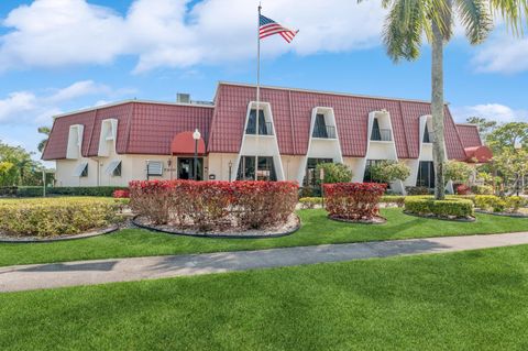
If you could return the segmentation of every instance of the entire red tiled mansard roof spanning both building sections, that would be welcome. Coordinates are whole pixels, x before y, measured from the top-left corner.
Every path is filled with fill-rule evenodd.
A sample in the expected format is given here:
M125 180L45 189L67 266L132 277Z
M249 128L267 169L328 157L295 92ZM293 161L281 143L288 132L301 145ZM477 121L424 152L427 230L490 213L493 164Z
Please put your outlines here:
M221 83L215 106L124 101L78 111L55 119L44 160L66 157L69 125L84 124L82 155L97 156L101 122L118 119L119 154L170 154L170 142L180 132L198 128L207 152L238 153L254 86ZM305 155L308 149L311 110L331 107L343 156L363 157L367 145L369 113L385 109L391 113L396 151L400 158L419 156L419 119L430 114L425 101L362 97L300 89L261 88L261 100L271 103L278 146L285 155ZM465 160L464 138L459 135L446 107L446 145L449 158ZM465 132L465 125L462 128ZM479 140L479 144L480 140ZM472 145L476 146L476 145Z

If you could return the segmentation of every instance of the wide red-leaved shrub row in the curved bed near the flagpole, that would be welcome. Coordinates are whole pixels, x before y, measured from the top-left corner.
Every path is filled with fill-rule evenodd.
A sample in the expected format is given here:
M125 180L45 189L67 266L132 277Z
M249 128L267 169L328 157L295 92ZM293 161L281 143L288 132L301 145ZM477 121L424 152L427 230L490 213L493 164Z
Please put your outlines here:
M210 231L283 223L297 205L294 182L131 182L132 209L155 224Z

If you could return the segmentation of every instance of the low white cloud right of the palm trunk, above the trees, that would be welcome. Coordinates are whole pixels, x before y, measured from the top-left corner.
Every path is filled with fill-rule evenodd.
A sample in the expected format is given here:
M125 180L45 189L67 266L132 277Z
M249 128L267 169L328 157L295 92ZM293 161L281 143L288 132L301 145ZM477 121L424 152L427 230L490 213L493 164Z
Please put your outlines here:
M485 103L451 109L458 122L469 117L483 117L497 122L528 121L527 110L516 110L501 103Z

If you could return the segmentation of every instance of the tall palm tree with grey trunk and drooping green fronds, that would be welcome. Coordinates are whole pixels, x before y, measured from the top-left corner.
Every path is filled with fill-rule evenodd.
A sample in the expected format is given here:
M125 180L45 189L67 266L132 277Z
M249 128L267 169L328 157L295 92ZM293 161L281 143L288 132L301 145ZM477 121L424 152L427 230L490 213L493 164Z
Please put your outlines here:
M363 1L363 0L359 0ZM479 44L493 29L492 9L505 9L502 15L520 20L510 1L527 0L382 0L389 12L383 32L388 56L398 62L414 61L420 55L424 34L432 48L431 64L431 114L435 132L435 197L446 197L444 184L444 99L443 99L443 47L452 36L454 18L460 19L471 44ZM516 2L517 3L517 2ZM520 6L518 7L520 9Z

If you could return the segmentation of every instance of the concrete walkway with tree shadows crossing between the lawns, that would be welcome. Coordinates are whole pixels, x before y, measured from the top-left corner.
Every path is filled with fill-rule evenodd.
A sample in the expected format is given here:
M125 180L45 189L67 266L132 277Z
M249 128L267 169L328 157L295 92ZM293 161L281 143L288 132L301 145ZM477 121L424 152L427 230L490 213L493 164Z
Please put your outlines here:
M528 244L528 232L0 267L0 292Z

